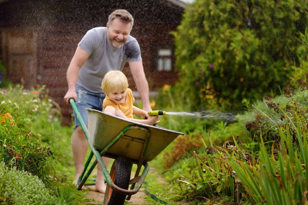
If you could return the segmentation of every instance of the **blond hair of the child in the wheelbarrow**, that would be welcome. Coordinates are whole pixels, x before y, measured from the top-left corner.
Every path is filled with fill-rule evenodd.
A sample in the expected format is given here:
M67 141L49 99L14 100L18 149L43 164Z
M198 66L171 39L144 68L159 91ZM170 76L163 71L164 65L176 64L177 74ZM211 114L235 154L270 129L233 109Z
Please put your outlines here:
M127 77L119 70L108 71L102 81L102 90L107 95L114 89L127 89Z

